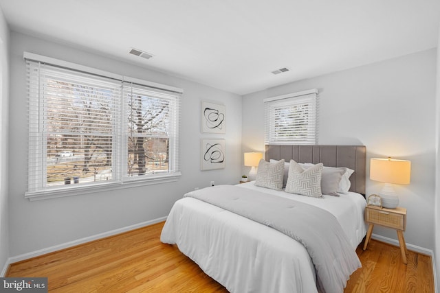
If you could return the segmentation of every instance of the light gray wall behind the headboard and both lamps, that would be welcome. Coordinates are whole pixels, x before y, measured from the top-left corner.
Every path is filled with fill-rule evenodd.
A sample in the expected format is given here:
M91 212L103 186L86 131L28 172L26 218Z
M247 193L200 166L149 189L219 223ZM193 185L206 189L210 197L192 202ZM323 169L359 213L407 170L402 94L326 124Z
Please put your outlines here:
M263 151L263 98L319 89L320 144L366 145L367 174L372 157L412 161L410 185L396 187L408 209L405 238L434 250L436 54L430 49L245 95L243 152ZM382 183L367 179L367 195L380 189ZM373 233L397 239L391 229Z

